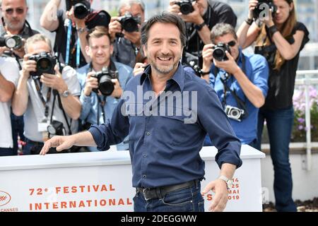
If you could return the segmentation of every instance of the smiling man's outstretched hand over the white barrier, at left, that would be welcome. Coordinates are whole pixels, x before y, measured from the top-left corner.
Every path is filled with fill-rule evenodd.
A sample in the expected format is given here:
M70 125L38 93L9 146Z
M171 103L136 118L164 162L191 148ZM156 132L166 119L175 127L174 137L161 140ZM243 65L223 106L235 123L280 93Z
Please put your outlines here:
M75 140L72 136L54 136L48 141L45 141L45 144L40 151L40 155L45 155L49 152L49 148L57 148L57 151L66 150L71 148L75 143Z

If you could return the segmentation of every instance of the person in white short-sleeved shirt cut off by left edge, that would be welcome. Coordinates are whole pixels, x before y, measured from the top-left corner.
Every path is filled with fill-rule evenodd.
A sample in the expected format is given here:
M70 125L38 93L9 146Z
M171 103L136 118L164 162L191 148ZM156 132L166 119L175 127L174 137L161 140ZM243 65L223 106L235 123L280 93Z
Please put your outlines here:
M0 156L16 155L11 136L11 98L18 83L18 65L12 58L0 57Z

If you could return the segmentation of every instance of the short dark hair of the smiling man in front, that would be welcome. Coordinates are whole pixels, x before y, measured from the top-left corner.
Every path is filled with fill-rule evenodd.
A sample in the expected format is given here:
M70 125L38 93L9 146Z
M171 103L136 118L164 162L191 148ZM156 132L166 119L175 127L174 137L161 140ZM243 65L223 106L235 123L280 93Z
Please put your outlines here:
M176 16L173 13L167 13L163 12L159 15L155 15L151 17L149 20L147 20L143 25L141 26L141 44L147 46L148 42L148 32L152 25L155 23L172 23L177 26L180 32L180 40L181 44L184 47L187 41L186 36L186 27L185 23L179 16Z

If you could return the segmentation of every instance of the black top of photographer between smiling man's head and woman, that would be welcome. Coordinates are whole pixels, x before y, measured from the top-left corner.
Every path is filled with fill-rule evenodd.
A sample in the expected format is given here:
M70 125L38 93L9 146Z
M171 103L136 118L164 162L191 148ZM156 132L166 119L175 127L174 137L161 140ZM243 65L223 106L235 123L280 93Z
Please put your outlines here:
M228 4L219 1L208 0L208 8L203 16L203 19L206 25L208 25L208 28L211 30L217 23L229 23L235 28L237 17ZM199 65L201 66L201 56L204 42L202 42L198 31L194 28L194 23L186 23L186 26L187 45L184 49L184 52L192 54L194 59L199 56ZM192 58L192 56L189 54L187 54L187 57L184 57L183 63L189 63L189 59ZM186 58L187 61L185 61Z

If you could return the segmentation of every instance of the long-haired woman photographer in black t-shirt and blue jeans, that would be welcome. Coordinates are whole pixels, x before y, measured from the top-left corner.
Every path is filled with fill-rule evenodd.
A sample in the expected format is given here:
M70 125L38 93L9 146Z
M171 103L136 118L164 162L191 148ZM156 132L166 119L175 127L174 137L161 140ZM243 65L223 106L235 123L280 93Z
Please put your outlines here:
M266 6L263 13L259 4ZM271 7L274 5L275 7ZM271 11L269 11L271 9ZM253 23L253 17L261 23ZM289 143L293 127L293 92L300 51L309 41L309 32L296 20L293 0L249 1L247 20L237 35L242 47L256 41L255 52L266 57L269 64L269 93L259 110L258 143L266 120L274 168L276 210L296 211L292 198L293 179L289 162Z

